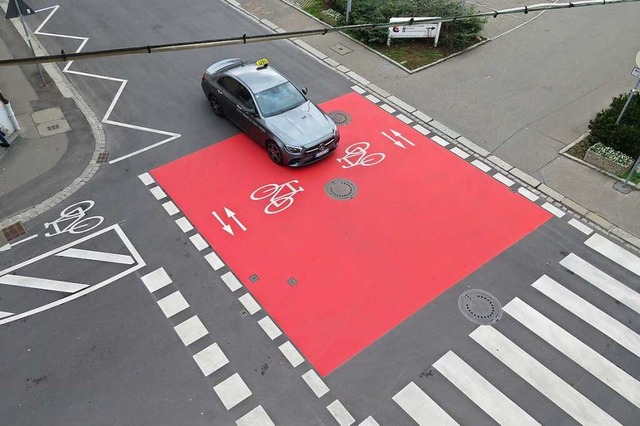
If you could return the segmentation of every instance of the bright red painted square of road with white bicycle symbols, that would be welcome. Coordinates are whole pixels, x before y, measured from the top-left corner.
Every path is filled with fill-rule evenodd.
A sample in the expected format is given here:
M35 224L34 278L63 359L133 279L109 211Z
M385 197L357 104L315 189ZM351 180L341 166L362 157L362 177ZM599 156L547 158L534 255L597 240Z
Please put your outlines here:
M322 107L346 111L352 121L341 126L338 149L320 163L276 166L264 149L238 135L152 175L326 376L550 214L358 94ZM357 156L337 161L361 141L370 143L367 155L383 153L384 159L364 157L365 164L379 161L366 166ZM325 184L335 178L353 181L357 196L327 196ZM260 199L269 191L254 194L263 185L294 180L275 204ZM287 192L293 193L290 204ZM253 274L256 283L249 281ZM297 283L290 285L290 278Z

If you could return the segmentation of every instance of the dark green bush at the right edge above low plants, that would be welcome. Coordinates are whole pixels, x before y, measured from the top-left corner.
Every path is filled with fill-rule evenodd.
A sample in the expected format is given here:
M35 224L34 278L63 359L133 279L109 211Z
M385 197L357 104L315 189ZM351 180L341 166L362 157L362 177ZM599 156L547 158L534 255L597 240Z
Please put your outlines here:
M640 156L640 95L631 99L622 120L615 124L628 97L623 94L613 98L609 108L600 111L589 122L589 138L593 144L602 143L637 158Z

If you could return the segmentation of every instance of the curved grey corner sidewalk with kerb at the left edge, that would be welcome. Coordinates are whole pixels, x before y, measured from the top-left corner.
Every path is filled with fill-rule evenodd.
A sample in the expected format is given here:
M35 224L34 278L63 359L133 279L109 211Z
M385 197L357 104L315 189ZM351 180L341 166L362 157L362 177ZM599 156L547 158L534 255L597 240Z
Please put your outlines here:
M0 58L31 56L15 24L0 21ZM33 41L36 53L45 54ZM0 229L26 222L75 192L97 171L104 147L104 139L96 144L99 122L57 66L42 72L46 86L34 65L0 72L0 90L21 127L12 146L0 148ZM0 233L0 246L4 237Z

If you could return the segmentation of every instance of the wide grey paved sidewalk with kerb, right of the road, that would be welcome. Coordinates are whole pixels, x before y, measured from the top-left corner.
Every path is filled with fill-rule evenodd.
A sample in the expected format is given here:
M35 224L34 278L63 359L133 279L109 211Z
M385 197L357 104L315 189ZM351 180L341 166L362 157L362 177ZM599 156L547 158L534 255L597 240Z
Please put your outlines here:
M284 0L227 1L275 31L323 25ZM524 4L530 2L483 0L481 9ZM560 155L612 97L631 88L638 46L620 39L640 21L637 6L544 12L528 22L521 15L508 22L490 18L485 35L494 40L413 74L339 33L294 43L385 101L421 111L418 119L432 130L640 248L640 192L623 195L612 188L614 179ZM593 22L608 36L581 30ZM610 37L618 40L616 49Z

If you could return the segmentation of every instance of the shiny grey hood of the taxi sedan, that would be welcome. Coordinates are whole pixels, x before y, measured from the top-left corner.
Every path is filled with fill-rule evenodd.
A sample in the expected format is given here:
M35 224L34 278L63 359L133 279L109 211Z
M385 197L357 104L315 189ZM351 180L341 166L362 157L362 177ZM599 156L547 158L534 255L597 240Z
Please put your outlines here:
M334 124L312 102L266 119L268 128L280 140L293 146L306 146L333 134Z

